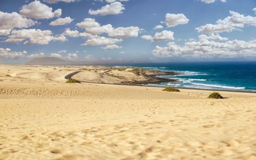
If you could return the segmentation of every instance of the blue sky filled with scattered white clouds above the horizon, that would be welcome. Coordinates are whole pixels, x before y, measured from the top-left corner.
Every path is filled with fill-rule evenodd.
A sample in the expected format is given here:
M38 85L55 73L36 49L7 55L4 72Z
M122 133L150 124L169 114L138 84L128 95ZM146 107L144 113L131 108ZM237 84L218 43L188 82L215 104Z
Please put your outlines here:
M255 0L1 0L0 63L255 61Z

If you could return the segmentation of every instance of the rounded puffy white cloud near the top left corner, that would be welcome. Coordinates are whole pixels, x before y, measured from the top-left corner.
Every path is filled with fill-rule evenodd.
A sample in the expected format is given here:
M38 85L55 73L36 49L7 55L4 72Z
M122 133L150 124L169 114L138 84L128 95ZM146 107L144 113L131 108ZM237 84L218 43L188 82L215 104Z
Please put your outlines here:
M56 12L52 12L51 7L36 0L29 3L28 5L23 5L20 10L20 14L35 19L50 19L54 16L59 17L60 12L60 9L58 9Z

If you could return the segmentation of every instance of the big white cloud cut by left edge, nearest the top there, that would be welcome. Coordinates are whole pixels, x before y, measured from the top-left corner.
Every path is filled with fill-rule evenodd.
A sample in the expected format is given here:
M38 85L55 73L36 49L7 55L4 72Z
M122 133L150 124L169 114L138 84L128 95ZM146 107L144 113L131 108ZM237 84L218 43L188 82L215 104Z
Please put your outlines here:
M27 28L34 26L37 22L22 17L19 13L4 13L0 11L0 35L7 35L10 29L13 28Z

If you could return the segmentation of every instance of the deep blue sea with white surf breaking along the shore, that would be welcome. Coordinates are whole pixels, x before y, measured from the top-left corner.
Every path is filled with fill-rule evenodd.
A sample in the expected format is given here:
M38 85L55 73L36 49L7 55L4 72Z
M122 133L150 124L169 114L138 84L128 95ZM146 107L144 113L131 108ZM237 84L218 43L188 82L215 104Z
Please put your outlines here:
M180 73L175 76L158 76L177 79L177 83L148 84L150 86L256 91L256 62L116 63L106 66L136 67Z

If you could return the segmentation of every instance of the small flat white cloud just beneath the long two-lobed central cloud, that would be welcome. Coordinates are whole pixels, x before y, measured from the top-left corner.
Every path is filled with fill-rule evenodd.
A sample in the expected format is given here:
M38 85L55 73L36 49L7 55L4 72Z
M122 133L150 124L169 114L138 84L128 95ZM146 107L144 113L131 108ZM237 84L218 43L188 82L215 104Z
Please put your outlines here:
M106 37L97 37L88 39L85 42L85 45L110 45L115 44L117 42L122 42L122 39L114 39L114 38L106 38Z

